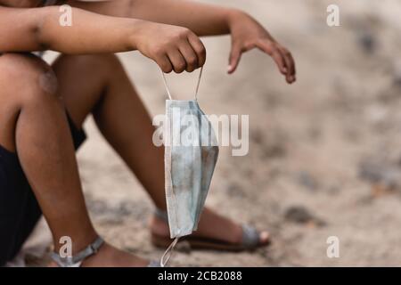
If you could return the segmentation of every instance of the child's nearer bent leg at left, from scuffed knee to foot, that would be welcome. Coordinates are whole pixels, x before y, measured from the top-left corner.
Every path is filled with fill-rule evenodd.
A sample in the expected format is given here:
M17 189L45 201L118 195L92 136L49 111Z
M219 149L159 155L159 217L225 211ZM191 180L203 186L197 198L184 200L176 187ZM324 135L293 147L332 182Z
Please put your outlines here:
M73 253L77 252L94 241L96 232L86 211L65 109L56 95L56 77L33 55L4 54L0 56L0 87L0 144L17 151L53 232L55 250L60 248L61 236L70 236ZM14 218L13 213L0 213L2 218ZM84 265L146 262L106 244Z

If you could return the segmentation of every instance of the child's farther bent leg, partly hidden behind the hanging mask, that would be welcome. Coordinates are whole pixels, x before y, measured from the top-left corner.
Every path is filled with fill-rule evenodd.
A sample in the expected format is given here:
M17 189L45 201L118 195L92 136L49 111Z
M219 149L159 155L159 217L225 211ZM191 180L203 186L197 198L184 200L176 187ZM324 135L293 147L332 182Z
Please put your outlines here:
M102 134L143 183L155 205L165 209L164 150L153 145L151 118L118 59L114 55L62 56L53 69L78 126L93 111ZM168 236L164 221L154 218L151 228ZM235 243L241 242L242 232L239 224L206 209L195 234Z

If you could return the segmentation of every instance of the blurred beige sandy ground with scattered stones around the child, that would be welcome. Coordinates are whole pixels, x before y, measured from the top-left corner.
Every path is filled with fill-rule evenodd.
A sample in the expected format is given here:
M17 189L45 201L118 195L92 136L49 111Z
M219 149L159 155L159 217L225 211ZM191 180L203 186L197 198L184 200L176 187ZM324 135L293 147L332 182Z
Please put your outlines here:
M225 75L229 37L207 38L200 105L209 114L250 114L250 152L222 148L208 204L240 222L268 229L271 248L253 253L177 253L172 265L400 265L401 4L335 1L341 26L326 25L333 1L209 1L250 12L298 63L286 85L273 61L252 52ZM138 53L120 55L152 115L164 112L160 71ZM169 76L189 98L196 75ZM135 122L133 122L135 124ZM114 245L159 258L142 186L96 130L78 152L94 223ZM146 159L146 158L143 158ZM340 257L326 256L329 236Z

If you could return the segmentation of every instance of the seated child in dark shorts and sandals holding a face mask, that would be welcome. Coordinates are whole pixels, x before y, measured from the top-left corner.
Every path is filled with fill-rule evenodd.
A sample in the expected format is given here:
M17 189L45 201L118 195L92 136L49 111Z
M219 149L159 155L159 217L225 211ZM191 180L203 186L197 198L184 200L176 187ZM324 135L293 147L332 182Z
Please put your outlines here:
M60 25L58 4L73 7L72 26ZM98 239L74 155L86 138L82 124L93 114L143 183L159 209L151 219L152 241L168 244L163 149L152 144L151 118L113 53L138 50L164 72L192 72L206 61L199 37L228 33L229 73L241 53L257 47L273 57L289 84L295 81L291 53L238 10L183 0L0 0L0 265L18 253L42 213L54 252L60 238L70 236L82 266L149 264ZM52 66L31 53L45 50L61 53ZM234 250L268 241L267 232L235 224L209 208L188 238L192 246Z

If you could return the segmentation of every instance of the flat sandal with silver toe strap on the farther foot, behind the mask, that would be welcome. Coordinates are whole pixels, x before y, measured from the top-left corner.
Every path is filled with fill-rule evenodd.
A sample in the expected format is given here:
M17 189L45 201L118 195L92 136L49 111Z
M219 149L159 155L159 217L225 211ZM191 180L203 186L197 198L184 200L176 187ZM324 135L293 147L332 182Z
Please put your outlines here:
M156 209L155 215L161 220L168 224L168 213L166 211ZM167 248L171 243L171 239L166 236L160 236L158 234L151 234L151 243L157 248ZM266 243L260 242L260 232L255 227L248 224L242 224L242 241L240 244L230 244L224 240L216 240L209 238L185 236L180 238L178 244L186 243L190 248L193 249L214 249L222 251L245 251L253 250L256 248L268 246L271 244L271 240L268 239Z

